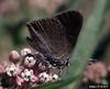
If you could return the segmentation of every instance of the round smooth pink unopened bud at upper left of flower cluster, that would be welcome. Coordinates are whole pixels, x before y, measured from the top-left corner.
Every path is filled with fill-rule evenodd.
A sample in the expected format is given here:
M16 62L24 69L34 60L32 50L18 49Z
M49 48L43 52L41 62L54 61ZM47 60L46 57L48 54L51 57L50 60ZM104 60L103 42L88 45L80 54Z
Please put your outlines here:
M9 54L9 60L16 64L20 60L20 54L16 51L12 51Z

